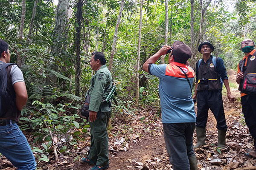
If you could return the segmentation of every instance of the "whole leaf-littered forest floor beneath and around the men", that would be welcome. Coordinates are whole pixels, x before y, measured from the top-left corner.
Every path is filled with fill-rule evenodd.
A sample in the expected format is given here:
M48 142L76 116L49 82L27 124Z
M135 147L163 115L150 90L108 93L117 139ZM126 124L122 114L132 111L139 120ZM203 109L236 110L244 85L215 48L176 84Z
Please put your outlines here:
M209 111L207 122L207 145L195 149L198 170L250 170L256 169L256 159L247 158L244 153L253 149L253 140L244 123L240 93L236 85L236 71L228 71L230 89L236 97L235 103L229 103L223 91L224 111L227 120L226 148L219 150L216 120ZM134 114L118 114L112 122L109 133L109 170L172 170L163 139L161 119L157 116L158 108L137 110ZM195 111L196 104L195 104ZM81 164L79 159L87 155L90 136L86 133L76 147L70 145L69 153L59 154L56 162L54 154L49 155L49 162L38 161L38 170L89 170L92 165ZM194 133L194 145L196 144ZM218 152L219 151L219 152ZM14 170L5 158L0 159L0 167ZM1 169L1 168L0 168Z

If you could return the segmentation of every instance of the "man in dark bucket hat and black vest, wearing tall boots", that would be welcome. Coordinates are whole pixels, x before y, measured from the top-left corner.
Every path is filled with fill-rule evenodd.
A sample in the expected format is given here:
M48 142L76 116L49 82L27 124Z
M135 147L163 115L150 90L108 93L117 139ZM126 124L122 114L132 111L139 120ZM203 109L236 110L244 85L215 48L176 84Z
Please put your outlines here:
M203 41L198 51L203 54L203 59L196 63L196 85L193 99L197 98L198 112L196 117L196 134L197 144L194 149L205 145L206 125L208 119L208 111L211 109L218 129L218 147L224 149L226 147L226 131L227 124L222 101L222 81L227 89L227 97L231 103L235 102L235 98L230 92L226 67L220 57L211 55L214 46L208 41ZM222 80L222 81L221 81Z

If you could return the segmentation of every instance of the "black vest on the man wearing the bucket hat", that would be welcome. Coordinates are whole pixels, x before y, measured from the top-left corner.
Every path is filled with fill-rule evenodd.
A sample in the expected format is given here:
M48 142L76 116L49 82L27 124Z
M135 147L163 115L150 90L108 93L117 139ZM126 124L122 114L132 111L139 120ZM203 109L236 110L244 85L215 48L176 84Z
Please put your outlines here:
M204 62L202 59L198 68L198 88L197 91L209 90L217 91L222 89L220 74L212 63L212 55Z

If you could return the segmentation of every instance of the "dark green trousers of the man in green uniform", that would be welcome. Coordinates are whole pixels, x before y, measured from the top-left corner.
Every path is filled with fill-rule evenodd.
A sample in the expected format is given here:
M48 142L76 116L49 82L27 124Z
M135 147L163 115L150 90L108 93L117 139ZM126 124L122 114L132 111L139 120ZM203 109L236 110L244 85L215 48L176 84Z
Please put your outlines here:
M88 158L96 162L98 166L106 166L109 164L108 158L108 121L111 117L110 112L97 113L97 119L94 122L89 122L91 133L91 146Z

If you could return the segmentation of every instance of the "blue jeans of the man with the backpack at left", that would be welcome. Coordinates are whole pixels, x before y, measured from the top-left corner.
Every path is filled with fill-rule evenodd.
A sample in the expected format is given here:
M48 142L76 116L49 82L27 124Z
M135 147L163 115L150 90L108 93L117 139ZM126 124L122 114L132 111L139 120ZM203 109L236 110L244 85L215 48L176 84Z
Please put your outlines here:
M35 156L18 125L0 126L0 153L18 170L35 170Z

